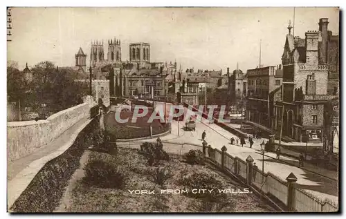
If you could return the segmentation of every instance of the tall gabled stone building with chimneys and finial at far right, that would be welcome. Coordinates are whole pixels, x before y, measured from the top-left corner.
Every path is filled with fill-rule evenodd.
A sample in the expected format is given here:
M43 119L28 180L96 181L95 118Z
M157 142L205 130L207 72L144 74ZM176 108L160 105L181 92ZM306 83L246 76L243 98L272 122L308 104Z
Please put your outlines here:
M275 106L274 114L278 126L283 119L283 135L299 142L304 135L310 142L322 141L325 104L338 99L328 92L330 67L336 65L330 60L338 57L338 49L330 48L335 44L329 44L333 37L327 28L328 19L322 18L318 24L319 31L305 32L305 39L293 37L289 24L282 55L282 101Z

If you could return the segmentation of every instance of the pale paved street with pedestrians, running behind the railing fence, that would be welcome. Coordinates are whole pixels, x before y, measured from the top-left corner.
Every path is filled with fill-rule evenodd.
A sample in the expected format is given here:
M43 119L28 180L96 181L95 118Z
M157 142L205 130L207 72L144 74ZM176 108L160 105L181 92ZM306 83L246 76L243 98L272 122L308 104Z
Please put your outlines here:
M162 104L162 103L157 103ZM168 105L168 104L167 104ZM169 107L167 107L169 108ZM190 112L191 113L191 112ZM210 124L208 120L202 119L202 122L197 122L196 131L184 131L185 120L176 122L172 121L172 133L170 135L165 135L161 137L161 140L165 142L174 142L178 144L188 143L188 144L198 144L201 145L201 135L203 131L206 131L206 142L210 144L213 148L221 149L222 146L226 146L227 152L230 155L237 156L242 160L246 160L248 155L255 160L258 168L262 169L262 155L260 153L260 142L261 140L255 140L253 144L253 148L249 148L248 142L247 144L242 146L231 145L230 138L237 136L229 133L217 126L216 124ZM178 127L179 127L179 136L178 136ZM148 141L148 140L145 140ZM151 140L155 141L155 139ZM266 140L265 140L266 141ZM297 184L299 188L307 189L309 192L313 193L313 195L317 196L324 200L325 198L329 198L330 200L334 200L334 202L338 202L338 182L337 180L331 180L329 178L324 178L318 174L311 173L309 171L305 171L304 169L300 169L297 166L292 166L291 164L298 165L298 160L293 158L280 156L280 160L288 163L278 162L274 153L266 153L266 155L271 156L272 158L265 157L264 158L264 171L271 172L274 175L277 175L282 180L285 180L289 173L293 172L295 176L298 178ZM337 173L334 171L329 171L326 169L321 169L316 166L309 165L309 169L320 172L322 175L327 175L330 178L337 178Z

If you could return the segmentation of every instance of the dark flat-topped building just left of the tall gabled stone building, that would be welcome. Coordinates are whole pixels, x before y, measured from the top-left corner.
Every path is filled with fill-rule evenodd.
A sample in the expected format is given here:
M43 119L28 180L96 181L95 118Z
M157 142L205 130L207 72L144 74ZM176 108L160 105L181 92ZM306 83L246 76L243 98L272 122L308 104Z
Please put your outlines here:
M282 84L281 66L266 66L247 70L248 94L246 120L271 127L271 105L277 88ZM273 92L275 91L275 92Z

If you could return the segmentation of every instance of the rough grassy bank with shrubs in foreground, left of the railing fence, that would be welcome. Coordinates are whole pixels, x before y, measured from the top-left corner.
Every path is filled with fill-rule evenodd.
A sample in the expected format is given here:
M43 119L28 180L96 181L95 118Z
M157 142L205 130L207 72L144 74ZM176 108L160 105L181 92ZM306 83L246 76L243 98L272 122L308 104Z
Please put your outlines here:
M191 165L175 155L170 155L169 161L161 160L156 166L149 166L145 155L137 149L120 148L117 155L91 151L84 174L75 184L71 206L66 211L275 211L253 193L216 192L244 188L208 165ZM168 194L167 189L183 189L188 193ZM215 189L215 192L194 194L192 189ZM134 190L149 190L154 194L135 194Z

